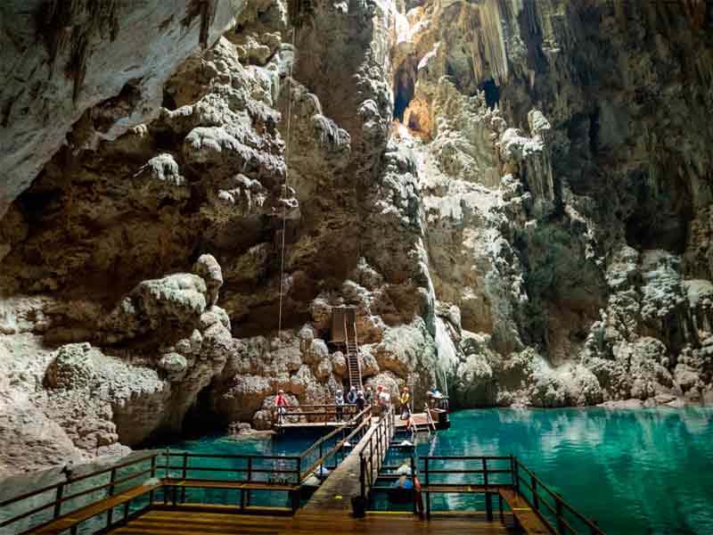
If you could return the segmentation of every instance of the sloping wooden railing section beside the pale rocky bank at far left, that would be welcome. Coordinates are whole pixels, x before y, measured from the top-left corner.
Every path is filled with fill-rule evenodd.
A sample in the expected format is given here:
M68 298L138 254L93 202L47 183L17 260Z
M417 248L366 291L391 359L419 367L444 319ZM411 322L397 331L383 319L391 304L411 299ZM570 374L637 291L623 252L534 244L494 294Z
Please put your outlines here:
M126 485L129 481L133 482L133 486L130 488L139 487L141 486L141 483L134 484L137 478L145 478L145 476L149 475L150 477L154 477L156 475L156 460L158 455L158 453L152 453L151 455L138 457L130 461L121 463L119 465L112 465L107 468L96 470L94 472L79 475L77 477L70 477L66 481L60 481L58 483L54 483L53 485L49 485L37 490L31 490L29 492L21 494L20 496L15 496L14 498L6 499L3 502L0 502L0 511L7 510L7 507L13 506L23 501L29 502L29 500L37 498L43 494L53 494L53 498L50 499L50 501L47 501L40 506L29 505L29 510L24 511L20 514L15 514L10 518L2 520L2 522L0 522L0 529L7 528L7 526L11 526L12 524L17 525L22 520L28 519L29 517L35 515L40 515L40 519L38 520L37 525L33 526L34 530L42 525L45 525L46 523L53 522L61 516L71 514L71 512L78 509L78 507L85 505L75 504L75 506L71 507L71 510L68 511L67 504L71 501L78 500L79 498L85 498L86 496L89 496L94 492L102 492L102 498L109 498L113 496L117 490L121 490L122 487ZM138 465L142 463L149 463L150 466L141 470ZM137 468L138 471L118 477L119 471L129 468ZM106 481L107 477L108 481ZM100 481L91 481L97 479ZM70 493L70 488L72 486L76 486L81 481L84 481L87 485L89 485L89 487L83 490ZM153 490L147 490L147 493L151 494L150 500L152 500ZM125 505L125 517L128 514L129 505L130 501L128 501ZM43 514L50 509L52 510L51 514ZM108 525L109 524L111 524L111 514L109 514Z

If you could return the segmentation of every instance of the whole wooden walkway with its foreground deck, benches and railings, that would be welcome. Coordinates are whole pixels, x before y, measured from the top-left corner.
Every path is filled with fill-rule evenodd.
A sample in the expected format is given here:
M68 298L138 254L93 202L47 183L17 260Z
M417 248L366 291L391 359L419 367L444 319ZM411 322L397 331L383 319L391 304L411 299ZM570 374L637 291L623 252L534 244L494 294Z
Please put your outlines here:
M584 532L572 528L573 525L584 525L588 533L603 535L596 523L578 513L512 456L412 458L412 470L418 470L422 481L421 495L412 495L414 512L369 512L363 518L356 518L353 510L361 510L363 514L360 505L364 505L373 492L391 490L390 485L380 487L378 481L392 481L395 474L391 471L397 468L383 465L396 422L392 415L374 421L368 410L354 418L361 424L348 436L344 436L342 429L336 429L299 456L217 455L169 450L133 456L120 464L5 499L0 502L0 509L12 506L16 513L0 519L0 532L18 533L25 529L21 531L23 535L56 535L67 531L71 535L77 535L79 531L143 535L458 535L511 533L512 527L518 526L521 532L532 535L565 535ZM337 437L340 432L341 440ZM355 446L338 464L337 454L347 440L353 441ZM300 509L299 496L303 490L300 485L332 457L336 464L333 468L330 466L332 472ZM217 461L227 465L215 465ZM82 490L74 486L78 481L84 481L79 488ZM232 499L227 505L217 505L211 493L200 498L205 503L184 503L186 496L190 496L185 490L193 488L237 492L234 501ZM259 490L285 493L290 506L251 504L250 493ZM48 498L46 495L49 494L53 497ZM84 506L72 501L95 494L99 494L99 498L88 499ZM434 494L485 495L486 511L431 511ZM40 495L45 497L37 498ZM352 498L359 499L353 504ZM493 506L494 498L497 499L497 511ZM145 505L137 504L139 500ZM424 517L414 514L421 500L425 502ZM20 504L25 507L20 508ZM136 509L136 505L140 508ZM45 519L47 513L50 518L44 523L43 520L29 525L25 523L17 529L20 522L41 512L45 512ZM93 524L88 525L87 521ZM106 529L102 529L104 525ZM6 530L8 526L10 528Z

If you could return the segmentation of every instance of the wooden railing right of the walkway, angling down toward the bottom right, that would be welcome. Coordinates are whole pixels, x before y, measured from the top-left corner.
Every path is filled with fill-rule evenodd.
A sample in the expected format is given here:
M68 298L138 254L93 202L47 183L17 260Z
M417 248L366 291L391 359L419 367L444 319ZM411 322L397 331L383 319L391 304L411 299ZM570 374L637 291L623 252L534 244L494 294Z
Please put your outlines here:
M517 457L422 457L426 515L430 517L430 493L484 494L488 520L493 518L492 497L510 490L524 499L547 529L556 535L603 535L602 529L540 481ZM494 466L494 464L497 464ZM521 486L529 492L521 492Z

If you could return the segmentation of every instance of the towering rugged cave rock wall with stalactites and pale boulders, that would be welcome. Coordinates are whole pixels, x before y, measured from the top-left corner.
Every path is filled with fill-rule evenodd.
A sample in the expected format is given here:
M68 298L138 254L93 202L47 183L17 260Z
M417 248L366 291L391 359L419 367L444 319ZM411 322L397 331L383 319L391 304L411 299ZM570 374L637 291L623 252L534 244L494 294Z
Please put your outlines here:
M269 428L342 305L417 403L713 400L708 4L45 7L0 7L0 473Z

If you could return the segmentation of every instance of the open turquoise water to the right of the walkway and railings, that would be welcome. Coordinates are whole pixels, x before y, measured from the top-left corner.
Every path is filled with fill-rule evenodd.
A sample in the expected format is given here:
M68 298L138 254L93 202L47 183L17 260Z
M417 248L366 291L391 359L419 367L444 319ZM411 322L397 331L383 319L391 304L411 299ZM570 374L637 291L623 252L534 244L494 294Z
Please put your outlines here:
M435 455L515 455L611 534L713 534L713 409L466 410Z

